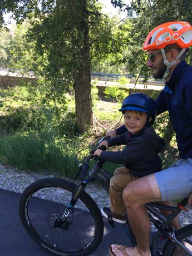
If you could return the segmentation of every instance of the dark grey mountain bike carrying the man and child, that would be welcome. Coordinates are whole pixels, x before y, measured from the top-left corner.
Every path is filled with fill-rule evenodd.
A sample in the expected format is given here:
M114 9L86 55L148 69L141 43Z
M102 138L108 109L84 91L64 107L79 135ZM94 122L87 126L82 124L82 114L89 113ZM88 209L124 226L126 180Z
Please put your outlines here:
M97 147L79 164L78 181L75 183L62 178L40 179L29 185L21 196L19 215L24 229L38 245L54 255L90 255L101 243L104 221L97 204L85 191L90 182L99 181L109 194L112 175L103 167L104 161L96 159L93 168L89 167ZM155 227L151 233L152 255L192 256L189 249L192 248L192 224L178 231L170 224L181 210L187 210L187 203L188 198L177 206L146 204ZM159 209L170 210L171 213L164 216ZM128 221L125 227L132 246L135 246L136 240Z

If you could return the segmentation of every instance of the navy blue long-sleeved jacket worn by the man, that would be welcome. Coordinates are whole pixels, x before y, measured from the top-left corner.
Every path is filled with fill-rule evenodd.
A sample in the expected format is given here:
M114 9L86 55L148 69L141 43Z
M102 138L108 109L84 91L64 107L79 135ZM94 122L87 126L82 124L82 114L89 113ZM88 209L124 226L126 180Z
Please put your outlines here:
M192 66L181 61L156 99L157 115L168 110L173 125L179 156L192 157ZM116 130L125 132L124 126Z

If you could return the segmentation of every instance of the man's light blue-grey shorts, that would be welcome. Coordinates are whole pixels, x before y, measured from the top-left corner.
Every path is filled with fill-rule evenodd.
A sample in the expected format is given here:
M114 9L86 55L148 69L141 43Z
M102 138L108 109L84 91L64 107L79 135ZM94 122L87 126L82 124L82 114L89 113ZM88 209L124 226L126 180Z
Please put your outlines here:
M161 200L188 198L192 193L192 159L180 159L170 168L155 173Z

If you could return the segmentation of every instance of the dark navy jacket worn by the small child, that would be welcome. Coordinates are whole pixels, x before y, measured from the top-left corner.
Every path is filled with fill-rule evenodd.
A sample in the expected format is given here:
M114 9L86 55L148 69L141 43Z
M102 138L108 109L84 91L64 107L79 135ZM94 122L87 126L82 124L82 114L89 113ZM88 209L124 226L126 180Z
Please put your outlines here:
M165 141L155 133L152 126L139 134L127 131L107 142L109 146L126 146L122 151L102 151L102 160L124 164L131 174L138 177L161 170L162 161L158 153L165 147Z

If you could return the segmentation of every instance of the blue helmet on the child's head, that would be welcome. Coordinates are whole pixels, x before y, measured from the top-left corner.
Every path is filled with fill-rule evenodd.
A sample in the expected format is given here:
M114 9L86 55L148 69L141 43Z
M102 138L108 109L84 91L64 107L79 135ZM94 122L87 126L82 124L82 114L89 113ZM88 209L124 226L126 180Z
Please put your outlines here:
M156 117L156 103L151 99L151 97L144 93L136 92L127 96L122 102L122 106L119 111L124 113L125 110L145 112L152 117L150 124L154 124Z

